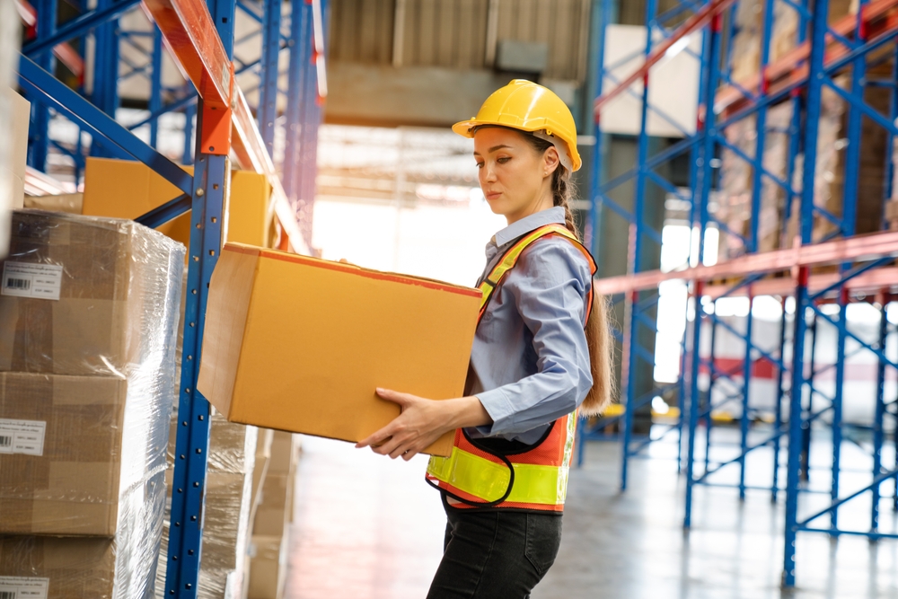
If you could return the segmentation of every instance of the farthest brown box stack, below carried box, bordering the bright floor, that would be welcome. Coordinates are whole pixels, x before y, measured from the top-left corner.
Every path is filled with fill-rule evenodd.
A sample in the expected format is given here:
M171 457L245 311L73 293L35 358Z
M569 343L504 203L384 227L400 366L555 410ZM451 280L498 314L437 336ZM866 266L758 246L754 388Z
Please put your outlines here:
M249 599L280 599L284 593L298 462L299 436L277 431L252 526Z

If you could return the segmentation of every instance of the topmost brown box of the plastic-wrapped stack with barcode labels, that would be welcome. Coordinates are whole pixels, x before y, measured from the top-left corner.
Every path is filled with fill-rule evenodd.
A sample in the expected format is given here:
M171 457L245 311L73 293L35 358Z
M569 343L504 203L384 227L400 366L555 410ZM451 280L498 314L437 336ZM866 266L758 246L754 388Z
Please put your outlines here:
M167 364L184 252L132 221L15 212L0 371L123 377Z

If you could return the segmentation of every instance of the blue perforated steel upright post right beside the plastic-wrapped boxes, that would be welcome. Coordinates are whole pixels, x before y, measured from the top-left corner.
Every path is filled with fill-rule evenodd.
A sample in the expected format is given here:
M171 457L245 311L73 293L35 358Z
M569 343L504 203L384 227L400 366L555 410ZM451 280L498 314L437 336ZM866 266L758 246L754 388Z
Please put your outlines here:
M233 58L234 0L207 0L228 58ZM203 506L209 444L209 403L197 391L200 349L206 324L209 279L223 242L222 222L230 191L231 164L226 155L203 147L202 101L198 101L196 163L190 216L187 304L181 361L178 434L172 478L172 525L166 596L194 599L201 563Z

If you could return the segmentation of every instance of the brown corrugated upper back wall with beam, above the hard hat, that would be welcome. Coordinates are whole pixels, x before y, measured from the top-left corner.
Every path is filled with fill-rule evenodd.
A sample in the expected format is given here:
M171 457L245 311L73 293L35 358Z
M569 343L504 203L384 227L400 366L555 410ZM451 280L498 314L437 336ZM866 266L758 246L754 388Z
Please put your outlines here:
M325 119L445 127L515 77L573 106L590 0L333 0Z

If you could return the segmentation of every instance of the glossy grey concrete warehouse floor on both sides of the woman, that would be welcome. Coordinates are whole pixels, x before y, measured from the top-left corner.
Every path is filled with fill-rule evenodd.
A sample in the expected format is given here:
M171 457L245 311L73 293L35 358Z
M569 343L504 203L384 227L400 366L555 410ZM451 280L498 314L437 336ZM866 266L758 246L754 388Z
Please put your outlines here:
M286 599L424 597L445 525L422 480L426 459L303 443ZM771 506L769 492L740 503L734 489L699 488L683 533L674 452L658 445L656 459L630 462L621 494L618 445L588 445L585 466L571 473L559 558L533 599L898 598L898 542L811 533L799 535L797 589L781 591L782 501ZM858 523L868 517L853 509L843 524L855 512ZM881 530L894 527L887 513Z

